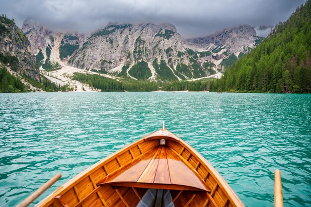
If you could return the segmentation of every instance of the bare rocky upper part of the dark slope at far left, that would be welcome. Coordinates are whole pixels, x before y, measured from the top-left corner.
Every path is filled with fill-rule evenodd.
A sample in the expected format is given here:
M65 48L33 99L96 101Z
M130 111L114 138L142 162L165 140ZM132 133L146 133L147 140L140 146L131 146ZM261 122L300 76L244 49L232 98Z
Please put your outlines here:
M11 69L39 81L35 57L31 54L27 37L6 16L0 16L0 54L10 60Z

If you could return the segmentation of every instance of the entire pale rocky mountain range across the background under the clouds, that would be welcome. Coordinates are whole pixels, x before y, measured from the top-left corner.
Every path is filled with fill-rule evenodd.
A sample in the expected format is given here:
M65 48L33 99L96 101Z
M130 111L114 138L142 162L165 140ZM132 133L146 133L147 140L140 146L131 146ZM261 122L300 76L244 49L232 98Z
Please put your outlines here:
M169 23L110 22L92 34L81 35L52 32L26 20L22 30L43 69L67 64L96 73L160 81L220 76L261 39L249 25L186 40Z

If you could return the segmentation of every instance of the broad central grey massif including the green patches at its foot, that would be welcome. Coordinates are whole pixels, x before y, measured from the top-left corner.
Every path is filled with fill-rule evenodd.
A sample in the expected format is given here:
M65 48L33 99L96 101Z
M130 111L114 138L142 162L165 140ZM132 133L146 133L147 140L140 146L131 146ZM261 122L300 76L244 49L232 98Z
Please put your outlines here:
M185 71L177 68L180 64L190 64L190 57L182 52L184 50L182 38L172 24L109 23L93 33L69 63L82 69L107 71L136 79L141 79L140 71L145 71L142 76L147 79L161 80L208 75L202 68L190 66Z

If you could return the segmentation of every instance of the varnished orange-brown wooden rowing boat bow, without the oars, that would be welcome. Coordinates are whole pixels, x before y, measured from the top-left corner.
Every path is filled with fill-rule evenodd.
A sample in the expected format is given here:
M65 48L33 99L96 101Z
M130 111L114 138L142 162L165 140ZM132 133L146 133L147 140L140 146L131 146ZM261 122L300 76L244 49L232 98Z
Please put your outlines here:
M162 128L84 170L37 207L243 207L214 167Z

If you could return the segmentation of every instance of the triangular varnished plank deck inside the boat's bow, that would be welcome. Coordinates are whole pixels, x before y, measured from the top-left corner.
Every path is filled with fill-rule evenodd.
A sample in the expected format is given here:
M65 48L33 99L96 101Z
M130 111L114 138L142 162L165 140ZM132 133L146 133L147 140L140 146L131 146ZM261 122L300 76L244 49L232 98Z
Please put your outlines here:
M150 161L146 165L149 159ZM144 159L118 173L111 179L106 178L100 181L98 185L133 185L140 188L211 191L204 181L194 173L194 170L166 145L157 146Z

